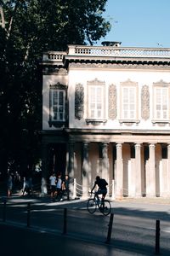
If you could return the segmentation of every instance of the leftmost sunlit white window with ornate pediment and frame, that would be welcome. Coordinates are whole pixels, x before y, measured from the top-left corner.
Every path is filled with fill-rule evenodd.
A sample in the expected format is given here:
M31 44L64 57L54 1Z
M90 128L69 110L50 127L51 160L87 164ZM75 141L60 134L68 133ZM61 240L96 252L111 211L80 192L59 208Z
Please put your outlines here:
M88 82L88 119L105 118L105 83L98 79Z

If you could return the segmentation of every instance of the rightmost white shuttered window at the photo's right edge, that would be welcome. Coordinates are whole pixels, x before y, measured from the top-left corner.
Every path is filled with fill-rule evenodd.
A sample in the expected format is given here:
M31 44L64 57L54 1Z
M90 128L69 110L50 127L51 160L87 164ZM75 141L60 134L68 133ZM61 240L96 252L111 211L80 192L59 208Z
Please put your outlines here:
M155 119L168 119L168 88L155 88Z

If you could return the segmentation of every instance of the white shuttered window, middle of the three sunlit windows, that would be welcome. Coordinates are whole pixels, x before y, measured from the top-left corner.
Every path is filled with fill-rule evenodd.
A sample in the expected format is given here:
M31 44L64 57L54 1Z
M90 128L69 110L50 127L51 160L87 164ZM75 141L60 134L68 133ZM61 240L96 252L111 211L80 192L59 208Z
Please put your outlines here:
M122 119L136 119L136 87L122 87Z

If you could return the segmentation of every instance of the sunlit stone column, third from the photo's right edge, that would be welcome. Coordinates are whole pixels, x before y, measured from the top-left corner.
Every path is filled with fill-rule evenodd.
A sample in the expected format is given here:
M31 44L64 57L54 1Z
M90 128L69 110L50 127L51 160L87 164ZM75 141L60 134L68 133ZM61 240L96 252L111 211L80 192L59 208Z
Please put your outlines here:
M141 145L135 144L135 196L142 195Z

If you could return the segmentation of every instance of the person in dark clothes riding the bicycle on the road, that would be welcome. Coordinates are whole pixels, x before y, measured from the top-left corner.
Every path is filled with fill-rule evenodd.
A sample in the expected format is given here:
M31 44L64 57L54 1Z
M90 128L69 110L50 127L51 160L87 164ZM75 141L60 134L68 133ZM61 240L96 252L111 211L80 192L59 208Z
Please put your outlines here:
M102 195L102 202L105 200L105 195L107 194L107 188L106 186L108 183L106 182L105 178L100 178L99 176L96 176L96 180L94 183L94 187L91 190L91 193L93 192L94 188L98 185L98 191L95 192L95 195L98 198L99 201L99 195Z

